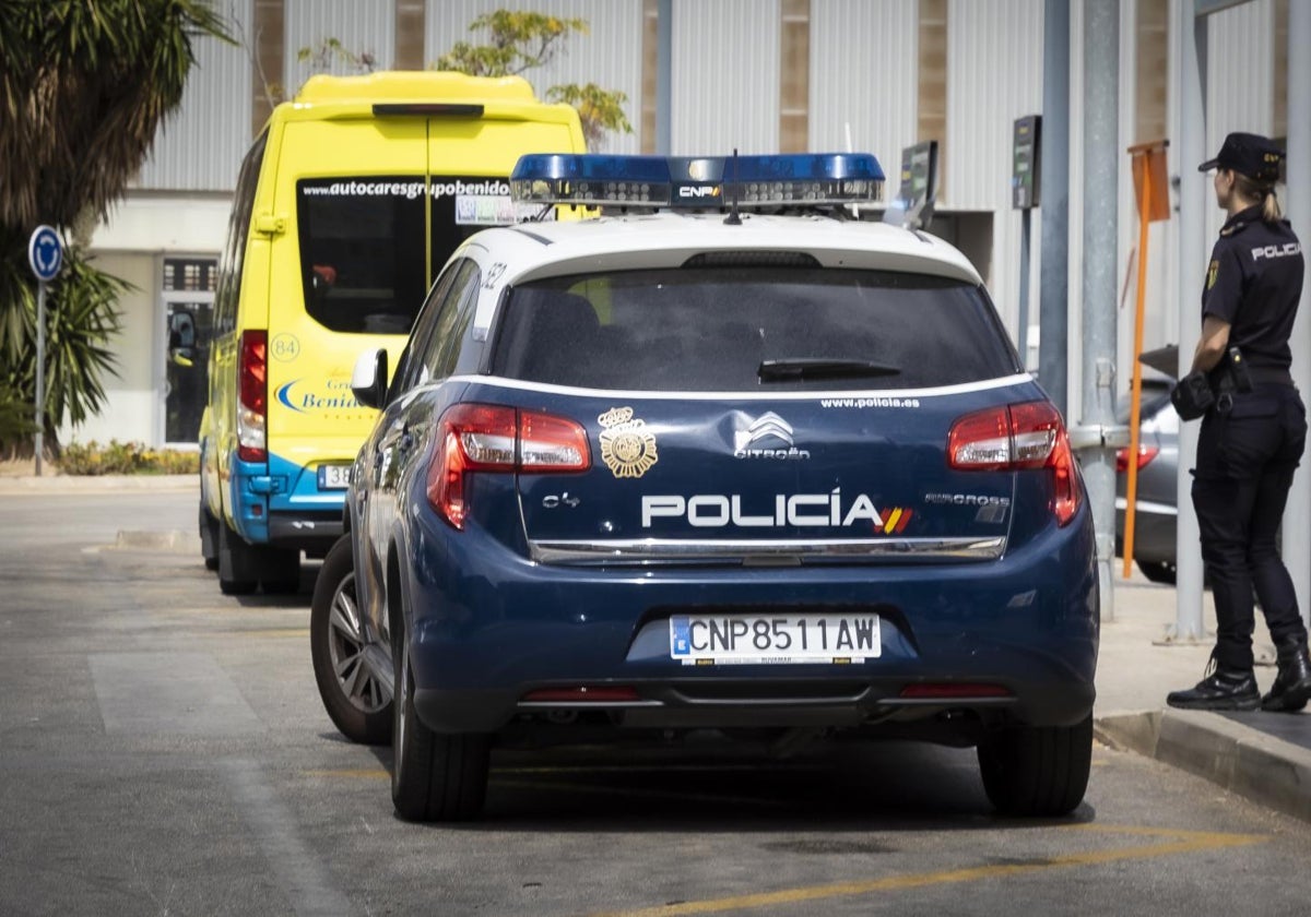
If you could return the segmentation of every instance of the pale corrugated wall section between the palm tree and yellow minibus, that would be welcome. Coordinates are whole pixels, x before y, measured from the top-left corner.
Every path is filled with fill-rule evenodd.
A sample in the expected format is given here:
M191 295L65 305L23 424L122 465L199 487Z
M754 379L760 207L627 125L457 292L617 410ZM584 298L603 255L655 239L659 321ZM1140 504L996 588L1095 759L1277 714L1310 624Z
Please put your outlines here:
M232 4L250 22L252 0ZM155 136L134 189L231 191L250 145L250 60L245 48L214 38L193 38L195 66L182 103Z

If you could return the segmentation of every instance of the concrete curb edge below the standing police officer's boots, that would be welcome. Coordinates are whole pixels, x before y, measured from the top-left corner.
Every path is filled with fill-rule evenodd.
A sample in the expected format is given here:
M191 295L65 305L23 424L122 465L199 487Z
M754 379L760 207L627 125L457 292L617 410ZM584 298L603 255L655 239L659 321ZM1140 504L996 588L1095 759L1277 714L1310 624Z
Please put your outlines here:
M1198 710L1112 713L1096 718L1093 734L1311 821L1311 749Z

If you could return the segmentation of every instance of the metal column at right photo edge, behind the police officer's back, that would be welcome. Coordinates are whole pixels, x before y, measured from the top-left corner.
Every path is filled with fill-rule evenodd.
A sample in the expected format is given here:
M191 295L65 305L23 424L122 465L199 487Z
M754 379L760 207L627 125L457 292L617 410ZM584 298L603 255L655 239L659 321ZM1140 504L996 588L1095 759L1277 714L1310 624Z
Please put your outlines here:
M1311 246L1311 4L1289 4L1289 217L1302 238L1303 255ZM1311 394L1311 287L1302 287L1302 305L1293 326L1293 380L1302 398ZM1307 457L1293 478L1283 512L1283 558L1298 593L1302 620L1311 612L1311 477Z

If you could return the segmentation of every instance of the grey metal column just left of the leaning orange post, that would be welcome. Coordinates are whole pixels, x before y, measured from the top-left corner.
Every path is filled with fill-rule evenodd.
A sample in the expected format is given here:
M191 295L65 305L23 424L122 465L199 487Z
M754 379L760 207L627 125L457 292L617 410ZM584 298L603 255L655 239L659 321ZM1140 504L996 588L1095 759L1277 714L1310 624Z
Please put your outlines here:
M1084 0L1083 415L1071 431L1097 529L1101 618L1114 620L1120 0ZM1046 335L1044 335L1046 337Z

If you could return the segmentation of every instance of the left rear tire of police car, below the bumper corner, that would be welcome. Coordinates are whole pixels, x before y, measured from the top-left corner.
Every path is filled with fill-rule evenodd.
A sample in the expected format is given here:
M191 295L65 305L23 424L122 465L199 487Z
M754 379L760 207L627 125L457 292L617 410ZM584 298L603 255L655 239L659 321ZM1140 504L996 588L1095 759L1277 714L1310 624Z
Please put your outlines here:
M481 734L446 734L427 728L414 711L414 672L404 634L392 694L392 804L405 821L464 821L486 798L490 741ZM399 656L399 659L397 659Z

